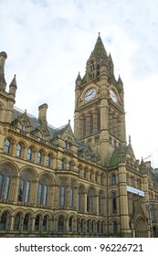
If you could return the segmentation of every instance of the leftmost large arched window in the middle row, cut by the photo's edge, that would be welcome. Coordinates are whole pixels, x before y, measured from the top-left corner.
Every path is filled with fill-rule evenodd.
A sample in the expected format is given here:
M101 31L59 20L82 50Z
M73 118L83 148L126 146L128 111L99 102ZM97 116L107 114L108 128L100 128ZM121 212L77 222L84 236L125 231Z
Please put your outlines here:
M0 198L6 200L8 197L10 176L0 174Z

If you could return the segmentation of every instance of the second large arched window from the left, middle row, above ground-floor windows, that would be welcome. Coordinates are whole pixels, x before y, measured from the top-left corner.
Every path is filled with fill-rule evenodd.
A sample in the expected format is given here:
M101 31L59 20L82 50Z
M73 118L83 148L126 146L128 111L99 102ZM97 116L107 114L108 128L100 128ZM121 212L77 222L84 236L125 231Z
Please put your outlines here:
M25 173L21 176L18 187L18 201L27 203L30 192L30 176Z

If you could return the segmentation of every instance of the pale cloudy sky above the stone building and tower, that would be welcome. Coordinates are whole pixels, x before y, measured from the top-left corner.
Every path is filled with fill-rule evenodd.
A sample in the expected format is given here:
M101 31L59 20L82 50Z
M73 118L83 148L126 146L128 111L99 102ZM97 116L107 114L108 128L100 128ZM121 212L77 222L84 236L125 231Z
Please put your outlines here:
M16 107L73 129L75 80L98 33L124 84L127 142L158 167L158 1L0 0L0 51L6 91L16 74Z

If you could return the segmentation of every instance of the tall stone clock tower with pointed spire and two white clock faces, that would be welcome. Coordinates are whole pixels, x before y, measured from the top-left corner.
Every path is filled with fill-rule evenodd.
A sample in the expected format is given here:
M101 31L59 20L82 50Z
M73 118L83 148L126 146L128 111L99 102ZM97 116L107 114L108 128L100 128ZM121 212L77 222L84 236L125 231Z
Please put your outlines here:
M120 76L115 79L111 54L100 34L85 75L79 74L76 80L74 133L99 153L103 166L109 164L117 147L126 145L123 83Z

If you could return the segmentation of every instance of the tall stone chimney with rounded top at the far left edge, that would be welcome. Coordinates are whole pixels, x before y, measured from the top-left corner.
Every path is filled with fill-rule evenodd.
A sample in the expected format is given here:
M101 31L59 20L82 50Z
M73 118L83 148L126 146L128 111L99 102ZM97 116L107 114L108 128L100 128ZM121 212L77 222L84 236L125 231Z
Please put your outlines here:
M0 90L5 91L6 82L5 82L5 59L7 55L5 51L0 52Z

